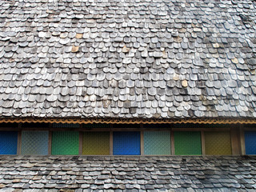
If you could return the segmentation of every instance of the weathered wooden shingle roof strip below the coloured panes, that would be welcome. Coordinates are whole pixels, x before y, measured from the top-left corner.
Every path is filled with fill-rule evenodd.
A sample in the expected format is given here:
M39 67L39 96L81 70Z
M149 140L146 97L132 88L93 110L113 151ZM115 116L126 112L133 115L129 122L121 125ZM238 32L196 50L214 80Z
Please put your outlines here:
M255 191L256 158L1 156L0 191Z

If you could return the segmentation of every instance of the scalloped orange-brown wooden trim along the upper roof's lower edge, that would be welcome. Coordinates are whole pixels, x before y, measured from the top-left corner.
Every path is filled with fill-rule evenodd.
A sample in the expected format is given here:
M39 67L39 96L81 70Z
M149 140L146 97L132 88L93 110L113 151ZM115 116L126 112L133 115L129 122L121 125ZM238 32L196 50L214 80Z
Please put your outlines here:
M106 123L106 124L256 124L256 118L0 118L0 123Z

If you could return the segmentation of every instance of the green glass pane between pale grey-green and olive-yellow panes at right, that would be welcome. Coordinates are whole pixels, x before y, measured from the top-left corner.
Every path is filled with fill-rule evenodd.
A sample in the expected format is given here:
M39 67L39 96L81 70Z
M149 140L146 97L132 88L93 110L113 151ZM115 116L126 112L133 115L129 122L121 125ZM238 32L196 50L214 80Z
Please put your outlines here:
M175 154L202 154L201 133L199 131L175 131L174 148Z

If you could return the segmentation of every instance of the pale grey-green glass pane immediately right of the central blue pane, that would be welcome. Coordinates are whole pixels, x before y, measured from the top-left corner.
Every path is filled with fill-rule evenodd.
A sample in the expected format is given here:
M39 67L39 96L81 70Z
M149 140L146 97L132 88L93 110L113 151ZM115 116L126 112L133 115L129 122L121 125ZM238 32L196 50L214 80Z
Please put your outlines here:
M170 131L145 131L144 154L170 154Z

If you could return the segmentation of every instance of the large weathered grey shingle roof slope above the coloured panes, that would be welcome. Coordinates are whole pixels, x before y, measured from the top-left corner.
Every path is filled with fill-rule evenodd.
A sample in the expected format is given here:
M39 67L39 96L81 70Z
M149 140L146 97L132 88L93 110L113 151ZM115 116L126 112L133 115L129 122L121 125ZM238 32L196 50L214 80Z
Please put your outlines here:
M256 117L256 2L0 1L2 117Z

